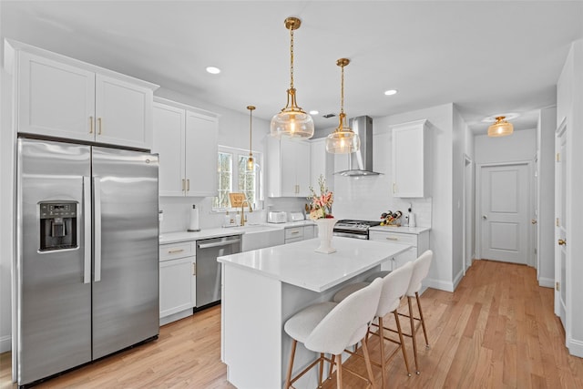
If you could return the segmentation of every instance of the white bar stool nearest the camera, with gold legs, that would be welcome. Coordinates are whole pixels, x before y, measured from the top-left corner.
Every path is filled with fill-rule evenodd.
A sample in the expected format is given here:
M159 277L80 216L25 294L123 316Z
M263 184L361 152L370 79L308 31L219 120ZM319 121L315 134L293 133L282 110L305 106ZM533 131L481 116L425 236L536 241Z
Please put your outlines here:
M332 365L336 364L336 379L339 389L343 386L343 369L366 381L366 387L376 388L365 338L368 326L373 321L382 288L383 282L379 279L360 291L354 292L343 302L322 302L311 305L295 313L285 322L283 328L292 337L292 355L285 380L286 389L292 387L294 382L317 363L320 363L319 385L322 386L324 361L331 363L331 373ZM368 378L348 368L343 368L342 353L344 349L359 341L363 341L364 362ZM293 358L298 342L303 343L308 350L320 353L320 357L292 378ZM325 357L324 353L332 354L332 359Z

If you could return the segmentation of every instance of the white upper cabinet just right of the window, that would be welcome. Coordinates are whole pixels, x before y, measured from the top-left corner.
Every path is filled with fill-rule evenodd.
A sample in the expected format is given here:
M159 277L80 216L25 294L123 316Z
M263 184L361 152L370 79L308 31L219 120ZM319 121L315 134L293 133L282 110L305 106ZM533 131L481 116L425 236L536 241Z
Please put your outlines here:
M268 196L310 195L310 143L297 140L267 140Z

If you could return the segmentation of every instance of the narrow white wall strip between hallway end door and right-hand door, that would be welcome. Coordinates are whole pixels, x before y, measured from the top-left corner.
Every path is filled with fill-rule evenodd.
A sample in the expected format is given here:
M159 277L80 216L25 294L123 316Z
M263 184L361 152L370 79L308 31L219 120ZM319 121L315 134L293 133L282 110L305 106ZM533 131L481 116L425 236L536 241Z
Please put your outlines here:
M540 110L537 124L538 284L555 287L555 129L557 107Z

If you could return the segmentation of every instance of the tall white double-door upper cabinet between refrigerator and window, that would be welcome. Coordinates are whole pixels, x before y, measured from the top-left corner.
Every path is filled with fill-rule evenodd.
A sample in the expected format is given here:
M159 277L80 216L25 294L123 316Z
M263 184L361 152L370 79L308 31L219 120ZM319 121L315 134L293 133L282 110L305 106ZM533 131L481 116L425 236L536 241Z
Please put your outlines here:
M158 97L154 102L160 196L217 195L218 118L195 110Z

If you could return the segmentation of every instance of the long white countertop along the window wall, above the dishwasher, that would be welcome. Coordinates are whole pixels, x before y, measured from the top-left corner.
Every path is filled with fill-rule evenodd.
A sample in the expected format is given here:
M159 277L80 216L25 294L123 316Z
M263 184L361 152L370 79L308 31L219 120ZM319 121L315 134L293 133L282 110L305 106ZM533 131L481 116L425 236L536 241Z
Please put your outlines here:
M201 239L219 238L221 236L241 235L249 232L283 230L285 228L315 225L312 220L288 221L285 223L254 223L238 227L219 227L204 229L198 232L174 231L165 232L159 236L159 244L176 243L178 241L199 241Z

